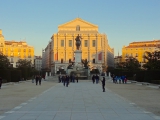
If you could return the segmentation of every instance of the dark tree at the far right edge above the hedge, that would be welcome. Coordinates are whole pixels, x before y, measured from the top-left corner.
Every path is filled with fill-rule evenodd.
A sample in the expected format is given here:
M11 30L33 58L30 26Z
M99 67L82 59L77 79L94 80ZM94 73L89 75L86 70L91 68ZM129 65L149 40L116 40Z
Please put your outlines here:
M147 70L160 70L160 51L145 52L143 56L147 63L143 67Z

